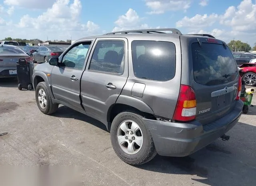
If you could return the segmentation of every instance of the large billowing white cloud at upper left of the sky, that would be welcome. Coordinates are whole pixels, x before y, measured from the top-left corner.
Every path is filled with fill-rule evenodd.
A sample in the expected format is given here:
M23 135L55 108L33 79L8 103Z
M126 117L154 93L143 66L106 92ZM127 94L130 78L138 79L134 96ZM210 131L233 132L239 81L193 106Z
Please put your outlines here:
M97 24L90 20L85 23L78 21L81 10L81 0L71 2L70 0L56 0L51 8L38 17L26 14L20 18L18 24L8 23L12 24L12 28L15 29L10 32L4 31L1 35L42 40L46 40L47 36L50 40L68 40L71 36L72 39L79 39L89 35L98 35L100 27Z

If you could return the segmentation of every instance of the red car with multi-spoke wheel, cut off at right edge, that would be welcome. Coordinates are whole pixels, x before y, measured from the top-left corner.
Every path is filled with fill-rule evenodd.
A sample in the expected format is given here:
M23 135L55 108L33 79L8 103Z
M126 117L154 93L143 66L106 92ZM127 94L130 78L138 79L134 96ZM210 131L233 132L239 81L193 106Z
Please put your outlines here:
M244 85L256 86L256 63L244 63L238 70Z

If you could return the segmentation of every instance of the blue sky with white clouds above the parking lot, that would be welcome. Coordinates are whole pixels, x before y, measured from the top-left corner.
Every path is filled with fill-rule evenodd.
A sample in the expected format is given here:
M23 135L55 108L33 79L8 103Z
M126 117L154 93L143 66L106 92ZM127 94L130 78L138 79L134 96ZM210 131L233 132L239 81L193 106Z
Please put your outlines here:
M177 28L256 43L256 0L0 0L0 39L77 40Z

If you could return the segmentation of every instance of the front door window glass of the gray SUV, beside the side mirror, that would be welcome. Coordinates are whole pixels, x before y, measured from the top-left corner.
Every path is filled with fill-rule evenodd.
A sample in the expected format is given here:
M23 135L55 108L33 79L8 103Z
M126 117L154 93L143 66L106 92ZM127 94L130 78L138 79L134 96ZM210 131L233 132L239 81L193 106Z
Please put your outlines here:
M65 67L82 70L84 61L91 42L76 44L63 57L62 63Z

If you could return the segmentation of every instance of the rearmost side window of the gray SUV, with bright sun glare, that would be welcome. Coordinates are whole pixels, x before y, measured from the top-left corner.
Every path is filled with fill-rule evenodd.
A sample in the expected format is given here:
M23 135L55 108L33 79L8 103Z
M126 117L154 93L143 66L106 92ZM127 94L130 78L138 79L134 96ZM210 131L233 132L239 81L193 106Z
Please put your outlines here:
M133 41L132 63L136 77L168 81L175 75L175 45L162 41Z

